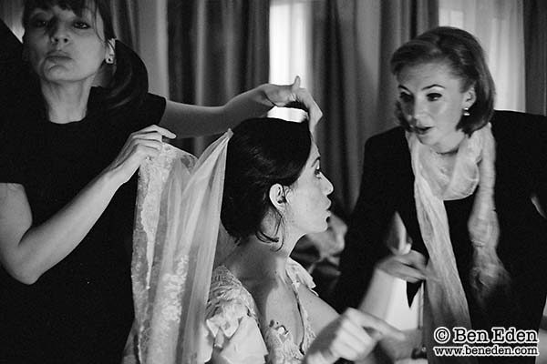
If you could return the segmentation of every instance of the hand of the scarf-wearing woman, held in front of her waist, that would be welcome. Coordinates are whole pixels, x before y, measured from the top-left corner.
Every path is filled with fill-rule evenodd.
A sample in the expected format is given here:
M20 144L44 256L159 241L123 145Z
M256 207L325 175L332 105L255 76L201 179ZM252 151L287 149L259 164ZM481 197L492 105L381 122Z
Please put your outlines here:
M428 278L426 258L416 250L410 250L407 254L389 256L381 260L377 268L411 283Z

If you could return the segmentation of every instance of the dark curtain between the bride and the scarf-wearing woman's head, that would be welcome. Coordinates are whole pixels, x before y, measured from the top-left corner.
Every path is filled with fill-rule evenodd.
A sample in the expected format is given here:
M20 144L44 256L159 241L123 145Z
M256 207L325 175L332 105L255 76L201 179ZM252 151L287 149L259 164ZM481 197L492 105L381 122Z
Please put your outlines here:
M396 83L389 58L411 37L437 25L436 0L315 1L314 96L325 120L317 139L334 199L356 202L366 139L396 126Z

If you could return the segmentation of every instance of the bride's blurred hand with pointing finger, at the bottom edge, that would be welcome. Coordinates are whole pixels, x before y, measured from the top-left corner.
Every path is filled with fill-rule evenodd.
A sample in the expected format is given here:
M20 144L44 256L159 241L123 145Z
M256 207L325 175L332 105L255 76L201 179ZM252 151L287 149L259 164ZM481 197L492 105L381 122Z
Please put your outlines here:
M401 331L385 321L355 308L347 308L321 330L307 350L303 363L334 363L340 358L364 359L383 337L405 339Z

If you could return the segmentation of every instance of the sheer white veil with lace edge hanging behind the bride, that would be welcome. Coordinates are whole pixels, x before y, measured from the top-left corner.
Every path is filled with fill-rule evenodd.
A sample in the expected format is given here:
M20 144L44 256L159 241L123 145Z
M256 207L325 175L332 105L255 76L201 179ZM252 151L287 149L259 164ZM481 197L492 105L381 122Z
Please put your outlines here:
M229 130L200 159L165 145L139 169L131 278L135 322L124 363L203 363ZM195 165L195 166L194 166Z

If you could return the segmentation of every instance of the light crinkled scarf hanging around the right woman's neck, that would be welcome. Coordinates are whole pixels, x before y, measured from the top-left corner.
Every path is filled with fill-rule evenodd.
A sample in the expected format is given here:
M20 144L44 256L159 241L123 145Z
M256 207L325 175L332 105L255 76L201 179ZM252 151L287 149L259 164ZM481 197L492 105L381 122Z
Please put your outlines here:
M430 363L438 362L431 347L438 327L471 329L468 302L459 279L456 258L449 235L445 200L470 196L478 187L468 222L473 242L473 268L470 282L474 295L484 303L508 275L496 254L499 237L494 208L495 142L491 126L465 136L459 146L453 168L443 166L441 157L422 145L413 133L407 133L408 148L415 176L414 194L418 223L428 248L428 280L424 305L425 338ZM470 357L443 358L442 362L474 363Z

